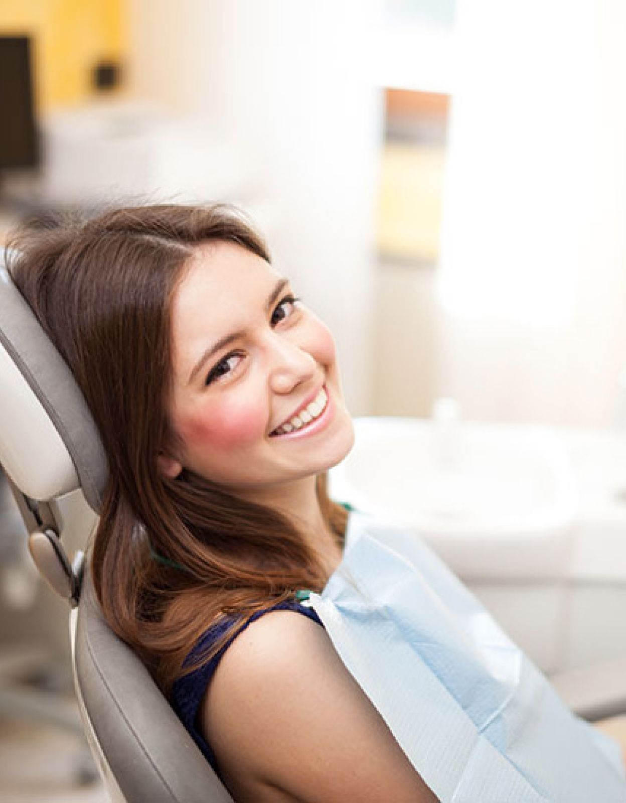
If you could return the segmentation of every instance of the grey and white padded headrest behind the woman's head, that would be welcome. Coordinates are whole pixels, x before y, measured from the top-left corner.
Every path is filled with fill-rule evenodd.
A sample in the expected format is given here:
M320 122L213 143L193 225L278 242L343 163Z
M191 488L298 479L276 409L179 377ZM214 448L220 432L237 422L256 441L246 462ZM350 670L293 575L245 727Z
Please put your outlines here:
M6 473L32 499L47 501L81 487L99 512L108 465L96 424L0 257L0 449Z

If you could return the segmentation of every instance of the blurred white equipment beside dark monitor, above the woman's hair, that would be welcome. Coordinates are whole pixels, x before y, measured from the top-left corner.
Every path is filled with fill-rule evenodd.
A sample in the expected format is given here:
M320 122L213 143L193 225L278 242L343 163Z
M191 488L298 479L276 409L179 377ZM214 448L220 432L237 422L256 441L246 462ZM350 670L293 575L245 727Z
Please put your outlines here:
M258 161L215 120L103 100L48 112L39 128L41 169L6 175L8 204L37 212L237 198L271 226Z

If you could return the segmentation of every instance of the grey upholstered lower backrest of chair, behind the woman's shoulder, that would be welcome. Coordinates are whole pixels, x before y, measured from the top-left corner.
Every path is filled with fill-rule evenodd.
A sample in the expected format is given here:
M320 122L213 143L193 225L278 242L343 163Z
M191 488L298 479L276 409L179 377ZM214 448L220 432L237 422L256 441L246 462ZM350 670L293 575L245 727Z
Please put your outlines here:
M74 654L83 715L91 722L124 800L232 800L143 664L104 621L88 571Z

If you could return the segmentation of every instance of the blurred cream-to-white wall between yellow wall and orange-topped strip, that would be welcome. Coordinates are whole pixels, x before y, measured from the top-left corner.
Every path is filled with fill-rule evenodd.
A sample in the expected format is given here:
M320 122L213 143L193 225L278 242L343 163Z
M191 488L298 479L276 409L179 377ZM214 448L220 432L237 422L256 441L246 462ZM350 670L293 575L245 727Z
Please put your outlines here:
M132 0L134 92L254 154L278 267L335 332L352 412L372 382L380 0Z

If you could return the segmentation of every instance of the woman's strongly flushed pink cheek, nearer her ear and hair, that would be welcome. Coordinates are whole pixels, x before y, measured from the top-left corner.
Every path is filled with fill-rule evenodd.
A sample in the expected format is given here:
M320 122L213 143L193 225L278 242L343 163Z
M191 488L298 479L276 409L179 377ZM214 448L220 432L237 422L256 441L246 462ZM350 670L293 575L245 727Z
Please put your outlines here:
M267 420L263 404L229 400L189 414L180 422L178 431L188 448L212 446L215 450L233 450L263 438Z

